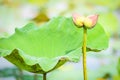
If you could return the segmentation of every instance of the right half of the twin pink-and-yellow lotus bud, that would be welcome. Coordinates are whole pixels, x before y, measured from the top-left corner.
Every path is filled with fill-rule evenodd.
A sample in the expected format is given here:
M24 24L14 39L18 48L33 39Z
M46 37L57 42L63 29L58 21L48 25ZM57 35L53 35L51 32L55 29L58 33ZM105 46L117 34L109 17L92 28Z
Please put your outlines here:
M93 28L98 20L98 15L90 15L85 18L84 26L86 28Z

